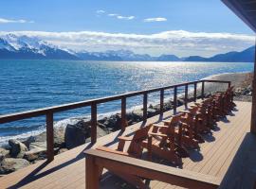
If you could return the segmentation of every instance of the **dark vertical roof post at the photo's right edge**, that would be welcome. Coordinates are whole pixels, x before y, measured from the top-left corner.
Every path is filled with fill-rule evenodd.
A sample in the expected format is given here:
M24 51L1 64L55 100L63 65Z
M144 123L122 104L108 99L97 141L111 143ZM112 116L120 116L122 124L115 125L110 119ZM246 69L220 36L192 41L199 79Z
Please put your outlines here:
M252 106L250 132L256 134L256 48L254 52L254 72L252 80Z

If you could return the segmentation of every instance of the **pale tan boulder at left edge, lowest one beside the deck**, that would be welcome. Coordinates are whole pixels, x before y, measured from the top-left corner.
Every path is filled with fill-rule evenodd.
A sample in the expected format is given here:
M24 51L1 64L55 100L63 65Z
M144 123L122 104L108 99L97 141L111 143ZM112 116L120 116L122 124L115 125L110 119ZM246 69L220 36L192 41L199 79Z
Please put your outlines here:
M9 174L17 171L18 169L24 168L29 165L29 162L24 159L5 158L0 163L0 174Z

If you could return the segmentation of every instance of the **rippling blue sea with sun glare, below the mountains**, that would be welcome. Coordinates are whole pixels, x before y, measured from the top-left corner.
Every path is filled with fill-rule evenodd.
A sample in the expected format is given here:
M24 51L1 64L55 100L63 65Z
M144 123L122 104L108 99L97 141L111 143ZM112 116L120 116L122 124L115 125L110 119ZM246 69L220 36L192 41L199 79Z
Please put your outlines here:
M82 60L0 60L0 114L23 112L85 99L146 90L222 73L249 72L243 62L118 62ZM166 99L172 97L166 91ZM149 96L157 103L159 94ZM128 109L142 104L142 96L127 100ZM101 116L118 112L120 101L101 104ZM89 108L54 115L62 126L70 117L88 116ZM89 117L89 116L88 116ZM45 129L46 118L37 117L0 125L0 144ZM60 121L64 120L64 121Z

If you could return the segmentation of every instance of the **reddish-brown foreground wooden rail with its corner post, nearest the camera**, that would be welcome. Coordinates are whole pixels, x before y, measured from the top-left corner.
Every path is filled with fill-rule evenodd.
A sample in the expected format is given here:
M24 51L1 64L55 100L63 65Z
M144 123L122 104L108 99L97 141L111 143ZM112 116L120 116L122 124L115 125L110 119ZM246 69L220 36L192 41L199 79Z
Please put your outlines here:
M129 174L149 180L164 181L187 188L218 188L221 182L221 179L209 175L125 157L97 149L91 148L85 150L84 153L86 156L85 185L87 189L99 188L101 168L120 173L129 172Z

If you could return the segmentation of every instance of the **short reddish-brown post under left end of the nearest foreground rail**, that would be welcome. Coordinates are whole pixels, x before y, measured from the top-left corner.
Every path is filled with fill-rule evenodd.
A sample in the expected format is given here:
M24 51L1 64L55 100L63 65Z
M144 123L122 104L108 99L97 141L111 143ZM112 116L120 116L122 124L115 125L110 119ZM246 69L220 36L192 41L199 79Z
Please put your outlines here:
M95 158L86 155L85 158L85 188L86 189L99 189L100 178L99 166L95 163Z

